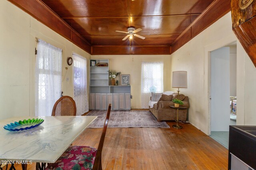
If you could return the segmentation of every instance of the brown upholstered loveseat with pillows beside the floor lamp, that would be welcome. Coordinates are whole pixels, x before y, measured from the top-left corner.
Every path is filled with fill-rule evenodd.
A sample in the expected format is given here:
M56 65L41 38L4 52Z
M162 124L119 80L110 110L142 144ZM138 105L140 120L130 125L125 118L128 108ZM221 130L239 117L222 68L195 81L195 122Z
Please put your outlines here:
M162 120L177 120L177 109L171 108L169 106L174 105L173 99L178 98L178 93L166 93L160 95L160 99L154 105L149 106L149 110L156 117L158 121ZM152 93L151 99L156 100L155 94ZM188 96L184 94L179 95L179 99L184 103L182 106L189 107ZM152 101L151 101L152 102ZM156 102L156 101L155 101ZM186 121L187 119L187 109L179 109L178 120Z

